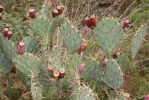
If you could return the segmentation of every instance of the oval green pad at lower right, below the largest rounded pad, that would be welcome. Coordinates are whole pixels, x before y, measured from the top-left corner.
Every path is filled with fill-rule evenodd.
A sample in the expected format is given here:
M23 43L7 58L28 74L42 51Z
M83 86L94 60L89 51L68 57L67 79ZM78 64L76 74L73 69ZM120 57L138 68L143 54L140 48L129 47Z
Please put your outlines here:
M123 86L123 73L115 60L110 60L105 67L103 81L113 89L119 89Z

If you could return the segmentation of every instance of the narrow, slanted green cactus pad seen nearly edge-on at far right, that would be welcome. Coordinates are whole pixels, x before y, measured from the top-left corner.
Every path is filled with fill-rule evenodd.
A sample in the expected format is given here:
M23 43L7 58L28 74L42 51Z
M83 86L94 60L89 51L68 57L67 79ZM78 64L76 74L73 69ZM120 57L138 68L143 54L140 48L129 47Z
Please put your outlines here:
M141 47L146 34L148 34L147 25L141 25L141 27L139 28L139 30L136 32L136 34L132 39L131 52L133 58L135 58L137 52L139 51L139 48Z

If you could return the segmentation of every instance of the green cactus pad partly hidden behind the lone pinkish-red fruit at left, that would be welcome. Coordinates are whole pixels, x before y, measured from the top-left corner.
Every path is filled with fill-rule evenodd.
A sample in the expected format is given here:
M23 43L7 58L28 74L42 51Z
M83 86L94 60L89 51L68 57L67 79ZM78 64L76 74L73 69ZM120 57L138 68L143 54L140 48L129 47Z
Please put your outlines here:
M26 52L28 53L37 53L40 50L39 41L31 36L25 37L22 40L26 46Z

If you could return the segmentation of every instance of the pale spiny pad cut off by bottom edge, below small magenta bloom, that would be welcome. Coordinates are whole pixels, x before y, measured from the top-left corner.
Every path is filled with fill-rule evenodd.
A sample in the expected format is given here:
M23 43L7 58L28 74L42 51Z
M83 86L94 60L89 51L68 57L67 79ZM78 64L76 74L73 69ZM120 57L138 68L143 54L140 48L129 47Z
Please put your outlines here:
M73 89L70 100L98 100L98 96L88 86L78 86Z

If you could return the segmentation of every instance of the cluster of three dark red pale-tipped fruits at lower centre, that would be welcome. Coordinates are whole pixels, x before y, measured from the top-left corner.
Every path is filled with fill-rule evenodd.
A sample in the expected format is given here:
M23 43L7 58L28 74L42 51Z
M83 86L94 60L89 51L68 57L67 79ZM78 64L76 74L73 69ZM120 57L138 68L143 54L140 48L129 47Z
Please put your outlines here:
M56 70L52 66L48 66L48 72L51 78L55 79L62 79L65 76L65 70L63 68L60 70Z

